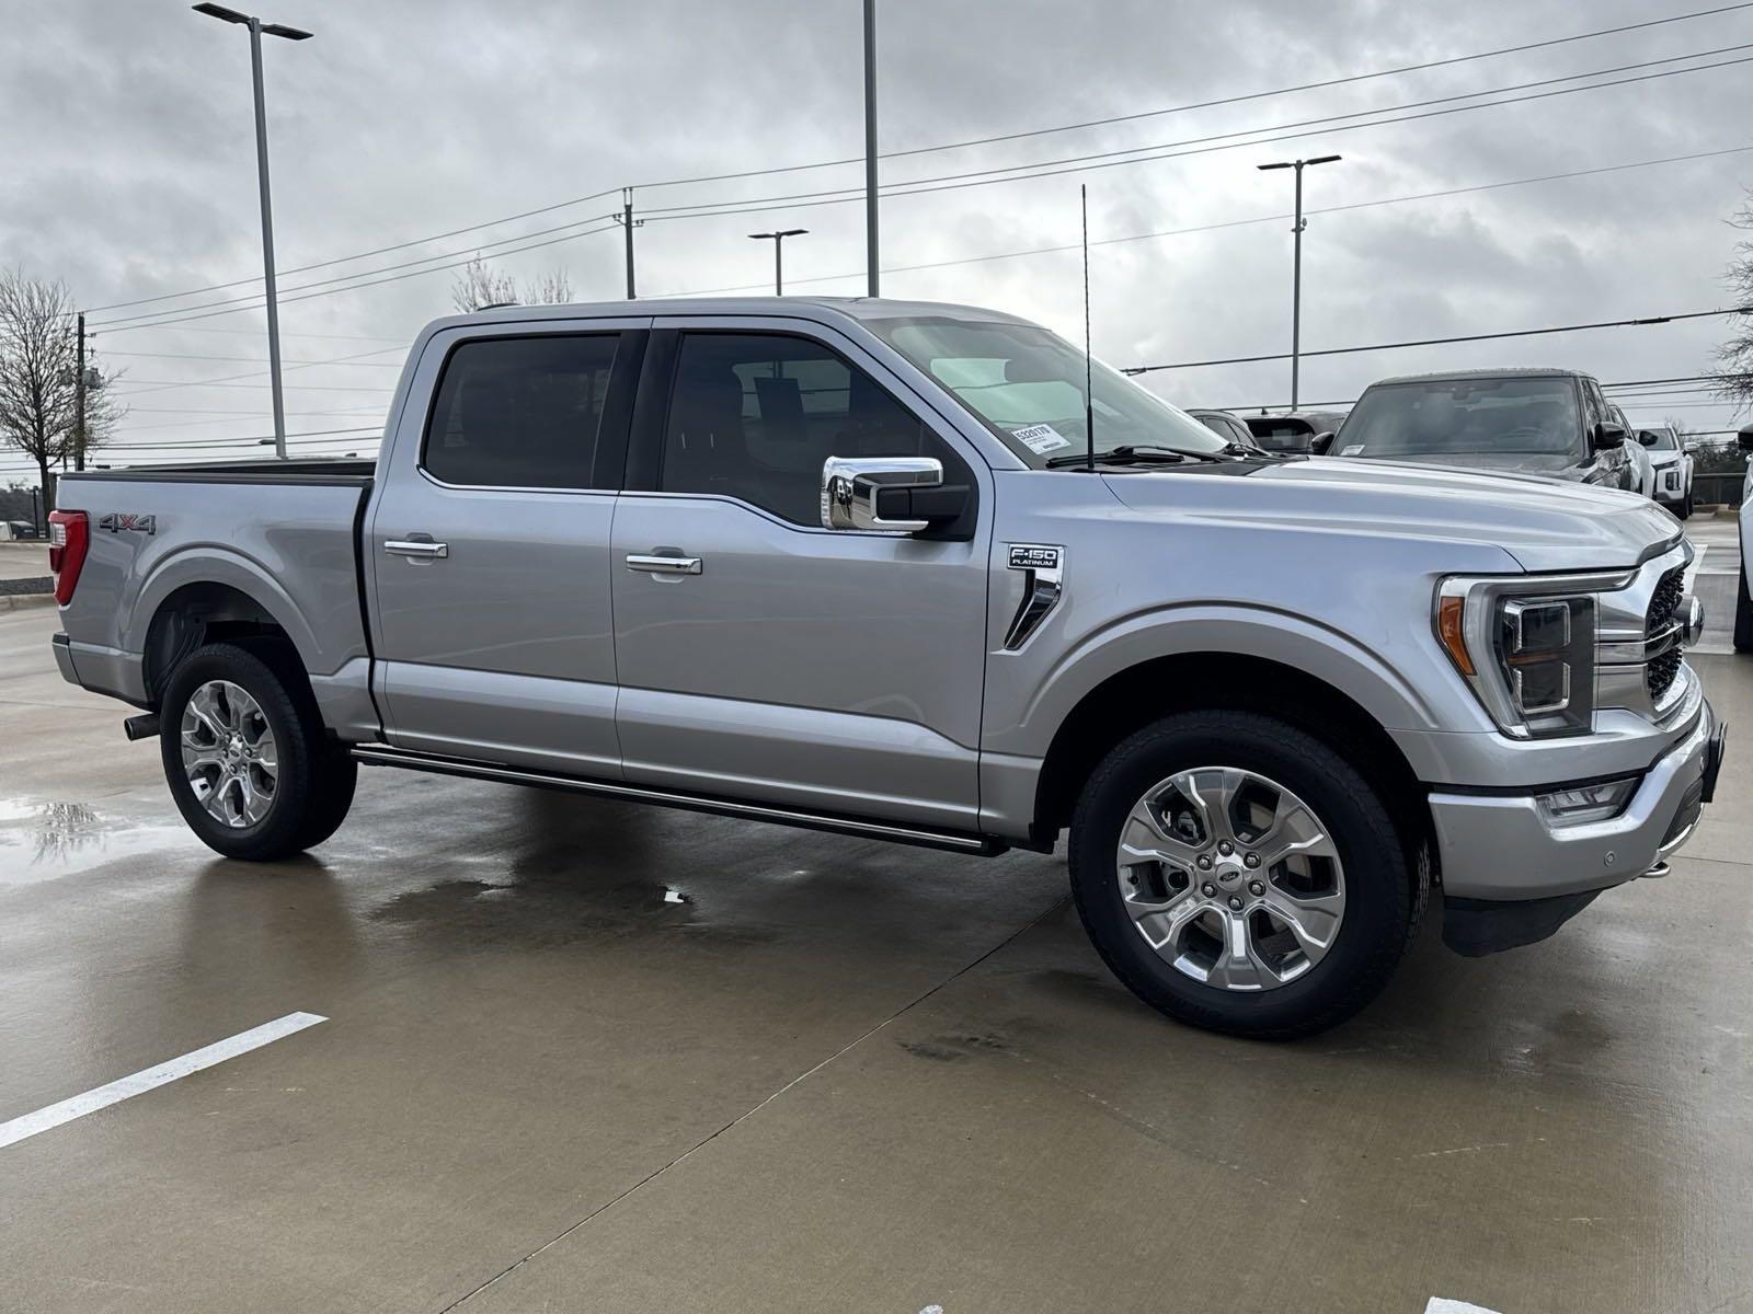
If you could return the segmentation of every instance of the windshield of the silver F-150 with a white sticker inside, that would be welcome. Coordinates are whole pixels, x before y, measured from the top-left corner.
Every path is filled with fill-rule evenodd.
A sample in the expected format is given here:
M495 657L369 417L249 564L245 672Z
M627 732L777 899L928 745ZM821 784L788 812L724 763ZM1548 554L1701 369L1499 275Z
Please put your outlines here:
M1064 338L1034 324L945 317L878 319L869 328L1033 468L1083 450L1083 352ZM1225 436L1099 361L1090 382L1097 456L1115 447L1229 449Z

